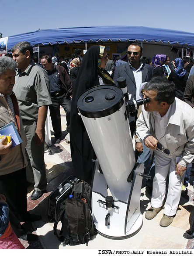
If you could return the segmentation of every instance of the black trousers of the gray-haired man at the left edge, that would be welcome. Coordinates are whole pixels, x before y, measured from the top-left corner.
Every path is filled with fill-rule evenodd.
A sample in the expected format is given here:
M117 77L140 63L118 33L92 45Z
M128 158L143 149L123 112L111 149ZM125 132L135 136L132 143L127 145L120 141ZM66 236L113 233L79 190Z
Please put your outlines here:
M5 195L9 206L9 219L15 234L20 237L26 234L21 221L28 218L26 168L14 173L0 175L0 194Z

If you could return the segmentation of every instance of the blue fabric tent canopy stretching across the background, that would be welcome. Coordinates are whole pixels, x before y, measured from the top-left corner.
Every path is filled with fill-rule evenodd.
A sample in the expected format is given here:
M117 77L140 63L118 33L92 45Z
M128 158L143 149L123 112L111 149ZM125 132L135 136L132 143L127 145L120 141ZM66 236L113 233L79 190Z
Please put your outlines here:
M20 41L32 46L57 43L80 43L90 41L154 41L194 45L194 33L143 26L94 26L64 29L39 29L8 37L8 49Z

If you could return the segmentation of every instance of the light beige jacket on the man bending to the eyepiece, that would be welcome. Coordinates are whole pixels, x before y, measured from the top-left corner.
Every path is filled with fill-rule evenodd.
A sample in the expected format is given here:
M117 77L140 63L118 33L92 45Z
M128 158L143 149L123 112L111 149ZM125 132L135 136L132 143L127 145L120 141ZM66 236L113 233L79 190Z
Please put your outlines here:
M141 141L149 135L155 136L155 123L152 112L142 113L137 120L137 135ZM194 109L187 103L175 98L170 110L170 119L166 127L166 145L172 157L181 156L186 164L194 159ZM180 161L179 161L180 162Z

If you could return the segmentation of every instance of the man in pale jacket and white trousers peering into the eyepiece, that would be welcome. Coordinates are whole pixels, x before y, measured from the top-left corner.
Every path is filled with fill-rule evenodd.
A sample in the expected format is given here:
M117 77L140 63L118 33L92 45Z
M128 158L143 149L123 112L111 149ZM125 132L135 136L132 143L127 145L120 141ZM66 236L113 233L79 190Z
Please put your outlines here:
M165 77L155 77L145 85L137 134L145 146L154 150L155 177L151 208L145 213L152 220L164 206L166 177L169 184L161 227L169 226L179 206L181 185L187 164L194 159L194 109L175 98L175 85ZM181 181L182 180L182 181Z

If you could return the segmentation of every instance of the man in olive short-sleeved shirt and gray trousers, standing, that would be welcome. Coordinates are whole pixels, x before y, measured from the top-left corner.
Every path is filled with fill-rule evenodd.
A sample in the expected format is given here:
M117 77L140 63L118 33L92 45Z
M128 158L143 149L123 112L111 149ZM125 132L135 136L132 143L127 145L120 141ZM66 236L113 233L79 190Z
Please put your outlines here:
M35 190L31 199L40 198L46 188L44 161L45 120L50 98L50 82L47 73L32 61L33 48L28 42L19 42L12 48L13 59L17 63L14 93L17 95L22 122L28 140L29 167L32 167ZM27 169L28 172L31 170Z

